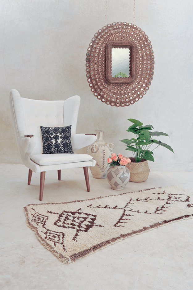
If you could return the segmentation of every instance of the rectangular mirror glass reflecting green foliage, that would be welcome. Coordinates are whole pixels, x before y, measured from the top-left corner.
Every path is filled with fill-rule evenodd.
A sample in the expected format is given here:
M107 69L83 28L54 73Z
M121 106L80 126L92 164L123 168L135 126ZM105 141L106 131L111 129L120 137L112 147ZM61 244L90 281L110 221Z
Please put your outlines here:
M130 49L112 48L112 77L129 77L130 75Z

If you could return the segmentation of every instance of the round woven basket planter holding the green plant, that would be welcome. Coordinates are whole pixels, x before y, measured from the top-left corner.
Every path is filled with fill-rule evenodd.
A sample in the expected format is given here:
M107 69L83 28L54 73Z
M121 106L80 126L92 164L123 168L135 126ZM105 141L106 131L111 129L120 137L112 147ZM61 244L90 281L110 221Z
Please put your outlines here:
M134 157L130 157L131 162L126 165L130 172L131 182L143 182L148 179L149 166L146 159L142 159L141 162L135 162Z

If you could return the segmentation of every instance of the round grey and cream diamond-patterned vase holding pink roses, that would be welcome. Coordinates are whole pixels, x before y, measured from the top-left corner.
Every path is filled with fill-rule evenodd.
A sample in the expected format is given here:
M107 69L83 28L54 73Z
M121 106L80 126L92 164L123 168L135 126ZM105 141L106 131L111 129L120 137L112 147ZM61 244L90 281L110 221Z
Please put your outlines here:
M122 190L128 183L130 172L124 165L111 166L107 170L107 180L112 189Z

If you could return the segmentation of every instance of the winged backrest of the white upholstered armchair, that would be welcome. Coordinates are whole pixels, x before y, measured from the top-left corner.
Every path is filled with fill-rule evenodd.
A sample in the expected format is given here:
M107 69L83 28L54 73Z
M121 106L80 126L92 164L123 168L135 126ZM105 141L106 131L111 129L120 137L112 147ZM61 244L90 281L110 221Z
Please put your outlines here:
M21 98L16 89L10 91L10 110L16 138L34 135L36 145L32 154L42 153L40 126L71 127L71 135L76 133L80 97L73 96L65 101L40 101Z

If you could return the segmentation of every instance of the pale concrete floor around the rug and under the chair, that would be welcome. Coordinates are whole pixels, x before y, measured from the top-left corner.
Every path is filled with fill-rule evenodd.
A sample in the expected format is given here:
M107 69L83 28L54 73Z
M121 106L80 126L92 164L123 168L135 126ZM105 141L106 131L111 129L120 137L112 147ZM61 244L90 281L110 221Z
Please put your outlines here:
M193 219L175 222L127 238L69 265L62 264L26 225L23 207L64 202L145 188L178 185L193 193L193 172L151 171L143 183L129 182L114 191L106 179L90 174L86 191L83 169L46 172L43 201L39 175L27 185L22 164L0 164L1 290L186 290L193 289Z

